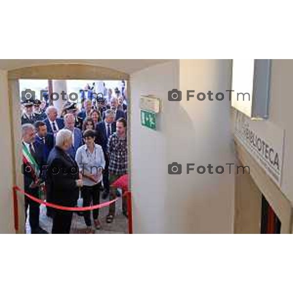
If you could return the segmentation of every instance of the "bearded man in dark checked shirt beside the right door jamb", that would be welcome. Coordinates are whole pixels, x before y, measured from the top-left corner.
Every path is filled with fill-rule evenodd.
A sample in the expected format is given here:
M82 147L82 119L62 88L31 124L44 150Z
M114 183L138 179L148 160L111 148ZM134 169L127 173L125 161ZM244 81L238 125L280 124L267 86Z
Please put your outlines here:
M109 182L110 195L109 200L116 198L117 190L111 187L119 177L127 173L127 137L126 120L120 118L116 121L116 132L109 137L107 146L107 155L109 157ZM122 198L123 214L127 217L126 198ZM109 213L106 217L107 223L112 223L115 216L115 203L109 206Z

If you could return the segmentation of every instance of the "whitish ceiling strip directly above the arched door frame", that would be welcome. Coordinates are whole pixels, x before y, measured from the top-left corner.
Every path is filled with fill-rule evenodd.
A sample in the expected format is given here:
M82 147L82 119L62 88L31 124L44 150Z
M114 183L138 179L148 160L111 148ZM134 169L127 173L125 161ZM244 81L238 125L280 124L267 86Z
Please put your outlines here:
M11 70L32 65L54 63L91 64L116 69L128 74L168 59L0 59L0 69Z

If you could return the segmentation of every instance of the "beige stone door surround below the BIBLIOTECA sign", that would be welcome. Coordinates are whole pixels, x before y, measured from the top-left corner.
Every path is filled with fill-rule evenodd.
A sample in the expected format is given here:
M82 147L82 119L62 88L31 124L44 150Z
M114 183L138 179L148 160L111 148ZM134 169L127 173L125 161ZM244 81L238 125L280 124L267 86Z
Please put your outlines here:
M292 207L290 201L237 141L236 155L242 166L250 167L250 175L236 176L234 231L254 233L257 230L260 225L261 209L259 196L262 193L281 221L281 233L291 233ZM258 230L259 232L260 230Z

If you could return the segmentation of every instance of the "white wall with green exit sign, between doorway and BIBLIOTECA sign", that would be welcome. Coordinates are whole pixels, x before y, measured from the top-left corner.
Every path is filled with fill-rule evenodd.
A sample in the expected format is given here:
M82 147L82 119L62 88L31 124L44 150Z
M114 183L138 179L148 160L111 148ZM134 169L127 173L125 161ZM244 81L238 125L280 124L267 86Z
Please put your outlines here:
M131 188L136 233L230 233L233 226L234 176L186 174L186 164L214 167L233 163L230 103L186 101L186 90L225 92L230 62L180 60L131 75ZM169 102L172 88L182 102ZM140 126L139 97L162 99L159 129ZM178 162L182 175L168 175Z

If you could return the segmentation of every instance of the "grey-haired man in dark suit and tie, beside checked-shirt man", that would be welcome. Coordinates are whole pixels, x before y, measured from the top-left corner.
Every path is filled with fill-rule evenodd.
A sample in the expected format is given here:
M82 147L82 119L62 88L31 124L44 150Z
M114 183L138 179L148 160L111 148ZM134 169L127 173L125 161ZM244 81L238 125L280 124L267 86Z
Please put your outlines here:
M103 185L104 185L104 192L103 192L103 199L105 199L109 192L110 192L110 185L109 185L109 158L107 156L107 144L110 135L112 135L116 131L116 123L114 123L114 112L111 109L107 109L105 111L105 120L100 122L96 126L96 135L97 135L97 143L102 146L104 157L105 157L105 169L103 172Z

